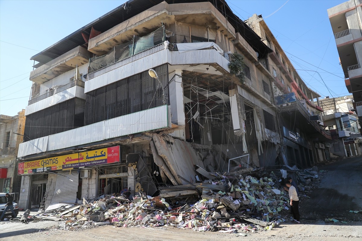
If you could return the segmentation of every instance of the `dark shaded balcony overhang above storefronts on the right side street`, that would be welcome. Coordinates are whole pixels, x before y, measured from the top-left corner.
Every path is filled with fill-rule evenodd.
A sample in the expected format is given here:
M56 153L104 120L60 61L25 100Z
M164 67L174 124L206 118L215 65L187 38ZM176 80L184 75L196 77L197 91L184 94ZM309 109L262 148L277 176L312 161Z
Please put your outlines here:
M290 118L291 123L295 123L299 129L304 130L310 136L318 138L320 141L331 140L331 133L322 128L317 121L309 119L310 113L297 99L296 102L280 106L282 113L287 113L286 118Z

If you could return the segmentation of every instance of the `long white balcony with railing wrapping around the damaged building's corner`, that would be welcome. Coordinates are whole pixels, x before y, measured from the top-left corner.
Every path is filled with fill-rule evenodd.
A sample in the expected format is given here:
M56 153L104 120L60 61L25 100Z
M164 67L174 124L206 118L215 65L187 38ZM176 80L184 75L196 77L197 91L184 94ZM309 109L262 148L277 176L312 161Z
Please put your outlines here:
M210 43L212 47L204 48L205 43ZM192 45L193 49L181 51L180 47L172 46L166 41L114 64L88 73L87 81L85 82L85 93L163 64L173 65L174 68L180 66L181 69L188 68L188 70L194 69L189 69L191 65L199 65L196 68L199 69L200 65L207 64L210 65L208 66L210 68L221 67L230 72L228 67L230 62L217 44L212 42L183 44L186 46ZM178 45L181 46L181 44ZM200 49L198 49L198 45L201 46Z

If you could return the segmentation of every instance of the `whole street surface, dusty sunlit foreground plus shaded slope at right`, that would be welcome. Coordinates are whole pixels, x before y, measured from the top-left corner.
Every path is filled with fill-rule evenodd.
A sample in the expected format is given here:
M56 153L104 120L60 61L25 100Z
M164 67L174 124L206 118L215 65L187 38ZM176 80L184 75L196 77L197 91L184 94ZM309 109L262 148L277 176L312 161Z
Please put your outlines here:
M301 224L281 223L271 231L247 233L247 236L219 232L196 232L174 227L162 228L113 228L111 225L78 231L56 230L56 221L38 221L29 224L1 222L1 241L18 240L290 240L290 241L361 241L362 214L349 210L362 209L362 162L350 158L320 169L328 172L320 188L307 193L310 198L301 199ZM350 185L352 183L352 185ZM285 213L289 215L288 213ZM326 223L325 218L335 218L347 223Z

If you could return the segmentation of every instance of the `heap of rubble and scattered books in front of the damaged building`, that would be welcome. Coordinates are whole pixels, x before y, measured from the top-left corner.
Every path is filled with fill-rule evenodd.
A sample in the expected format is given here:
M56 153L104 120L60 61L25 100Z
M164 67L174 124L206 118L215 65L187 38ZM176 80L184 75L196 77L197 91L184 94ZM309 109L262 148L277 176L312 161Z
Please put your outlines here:
M173 226L240 235L270 230L286 221L281 212L289 210L289 197L283 190L281 172L246 168L210 175L215 178L160 187L156 197L144 193L132 199L123 194L105 195L93 202L83 199L80 205L61 206L35 217L64 220L59 229L65 230L112 224L114 227ZM320 179L310 171L299 172L298 177L305 184Z

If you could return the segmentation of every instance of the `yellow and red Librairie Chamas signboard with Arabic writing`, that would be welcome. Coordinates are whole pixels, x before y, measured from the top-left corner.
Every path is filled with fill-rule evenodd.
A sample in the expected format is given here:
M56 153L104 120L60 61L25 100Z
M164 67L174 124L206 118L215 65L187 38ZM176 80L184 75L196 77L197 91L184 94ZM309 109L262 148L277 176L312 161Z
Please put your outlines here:
M30 162L22 162L18 164L18 175L57 170L70 170L73 168L116 163L119 162L119 160L119 146L106 147L63 156L54 156Z

